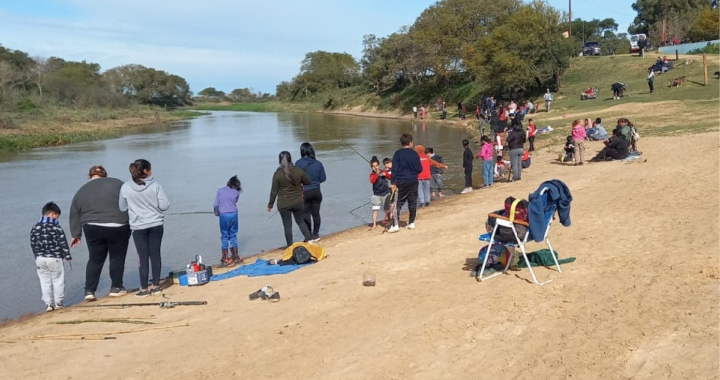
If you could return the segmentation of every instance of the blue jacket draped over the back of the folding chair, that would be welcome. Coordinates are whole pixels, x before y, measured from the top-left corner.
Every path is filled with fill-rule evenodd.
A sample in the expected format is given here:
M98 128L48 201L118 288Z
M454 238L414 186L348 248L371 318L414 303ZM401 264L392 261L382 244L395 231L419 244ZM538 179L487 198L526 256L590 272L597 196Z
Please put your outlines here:
M548 190L544 195L540 192L545 187ZM572 202L572 194L570 189L563 181L553 179L543 182L534 193L528 196L528 222L530 223L530 233L533 240L541 242L547 228L545 220L545 212L555 206L560 223L567 227L570 225L570 202Z

